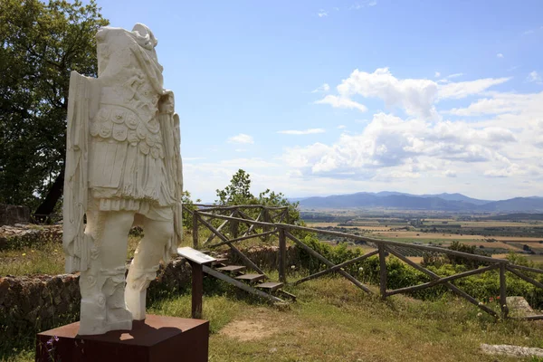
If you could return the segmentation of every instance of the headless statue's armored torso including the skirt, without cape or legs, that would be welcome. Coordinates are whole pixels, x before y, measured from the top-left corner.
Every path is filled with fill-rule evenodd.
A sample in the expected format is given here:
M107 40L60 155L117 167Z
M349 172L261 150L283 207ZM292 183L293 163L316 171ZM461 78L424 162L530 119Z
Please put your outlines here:
M104 28L97 35L100 104L90 119L90 189L100 210L173 205L158 103L164 94L154 44ZM105 162L104 162L105 161Z

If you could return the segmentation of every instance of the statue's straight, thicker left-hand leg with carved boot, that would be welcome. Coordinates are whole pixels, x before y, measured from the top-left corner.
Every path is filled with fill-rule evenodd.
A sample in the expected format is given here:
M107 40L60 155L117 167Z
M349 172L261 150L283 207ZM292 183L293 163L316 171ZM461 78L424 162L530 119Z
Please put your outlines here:
M94 241L87 271L81 271L81 323L79 334L102 334L132 329L132 315L124 300L125 262L134 212L87 213L85 233Z

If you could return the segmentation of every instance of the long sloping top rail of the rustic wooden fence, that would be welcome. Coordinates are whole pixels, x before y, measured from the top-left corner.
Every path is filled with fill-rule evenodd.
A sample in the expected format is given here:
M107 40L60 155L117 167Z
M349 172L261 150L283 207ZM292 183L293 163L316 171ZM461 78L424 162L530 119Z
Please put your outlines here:
M224 220L235 219L235 218L231 218L231 217L224 216L224 215L213 215L213 214L207 214L207 213L203 213L203 212L200 213L200 214L205 214L206 216L214 216L214 217L217 217L219 219L224 219ZM243 221L243 219L238 219L238 220ZM363 241L363 242L367 242L367 243L376 243L377 245L378 244L385 244L387 246L398 246L398 247L403 247L403 248L424 250L424 251L427 251L427 252L441 252L441 253L444 253L444 254L462 256L462 257L464 257L466 259L478 260L480 262L495 262L495 263L506 263L506 264L509 263L507 260L504 260L504 259L495 259L495 258L491 258L491 257L488 257L488 256L471 254L471 253L468 253L468 252L457 252L455 250L445 249L445 248L441 248L441 247L437 247L437 246L392 242L392 241L389 241L389 240L381 240L381 239L368 238L368 237L365 237L365 236L357 236L357 235L354 235L354 234L351 234L351 233L332 232L332 231L329 231L329 230L313 229L313 228L306 227L306 226L291 225L291 224L271 224L271 223L263 223L261 221L259 221L259 222L253 221L251 223L256 224L258 226L275 226L275 227L280 227L281 226L285 230L302 230L302 231L306 231L306 232L310 232L310 233L322 233L322 234L325 234L325 235L339 236L339 237L344 237L344 238L353 239L353 240L359 240L359 241Z

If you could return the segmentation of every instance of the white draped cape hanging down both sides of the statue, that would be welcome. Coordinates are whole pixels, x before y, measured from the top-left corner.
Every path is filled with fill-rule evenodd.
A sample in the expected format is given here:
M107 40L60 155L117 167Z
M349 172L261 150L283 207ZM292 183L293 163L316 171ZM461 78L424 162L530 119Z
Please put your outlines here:
M118 28L104 28L101 31L119 32ZM124 30L122 30L124 31ZM132 43L130 52L138 60L139 69L144 71L151 87L160 96L171 95L164 90L162 66L157 62L145 37L138 33L129 33ZM150 44L152 46L152 44ZM146 50L147 49L147 50ZM84 215L90 204L89 193L89 143L90 119L93 119L100 103L100 78L82 76L71 71L70 98L68 101L68 128L66 137L66 166L64 176L63 199L63 247L66 252L66 271L86 271L90 262L93 240L84 233ZM176 252L177 243L182 238L183 176L180 156L179 118L176 114L156 116L161 129L162 142L165 146L165 167L168 184L172 187L175 203L173 240L167 243L163 259L167 262L171 253Z

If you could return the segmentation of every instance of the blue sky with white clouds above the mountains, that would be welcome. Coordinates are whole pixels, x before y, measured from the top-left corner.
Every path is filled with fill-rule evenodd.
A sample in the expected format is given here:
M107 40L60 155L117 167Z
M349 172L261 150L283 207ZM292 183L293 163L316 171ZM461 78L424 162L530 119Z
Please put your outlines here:
M148 25L184 186L543 196L539 0L98 0Z

